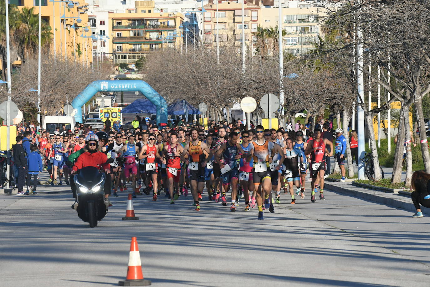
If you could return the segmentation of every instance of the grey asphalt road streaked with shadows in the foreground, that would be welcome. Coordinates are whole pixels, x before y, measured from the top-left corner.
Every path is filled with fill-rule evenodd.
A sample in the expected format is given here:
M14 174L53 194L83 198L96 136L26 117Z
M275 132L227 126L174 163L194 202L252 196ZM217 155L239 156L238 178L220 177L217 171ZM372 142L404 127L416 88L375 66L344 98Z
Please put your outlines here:
M309 182L307 182L309 185ZM0 195L2 286L109 286L126 278L136 236L154 286L426 286L430 218L326 191L325 201L281 196L276 213L238 211L190 196L170 205L142 195L122 221L126 192L95 228L70 208L67 186Z

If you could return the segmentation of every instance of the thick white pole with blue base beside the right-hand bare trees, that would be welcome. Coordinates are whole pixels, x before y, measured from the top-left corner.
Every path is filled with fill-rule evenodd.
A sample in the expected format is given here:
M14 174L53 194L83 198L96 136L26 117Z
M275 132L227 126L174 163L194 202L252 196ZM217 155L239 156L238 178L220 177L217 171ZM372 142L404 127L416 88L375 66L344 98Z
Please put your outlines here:
M357 125L358 125L358 157L364 156L364 111L362 99L364 97L364 77L363 77L363 43L362 31L357 29ZM358 166L358 179L364 179L364 163L360 160Z

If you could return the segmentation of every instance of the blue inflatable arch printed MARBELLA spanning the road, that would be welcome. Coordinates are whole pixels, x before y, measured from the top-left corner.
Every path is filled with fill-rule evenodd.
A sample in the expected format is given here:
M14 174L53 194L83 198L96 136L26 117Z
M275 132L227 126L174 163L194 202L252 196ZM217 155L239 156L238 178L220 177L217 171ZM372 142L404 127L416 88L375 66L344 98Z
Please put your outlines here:
M167 123L167 102L148 83L142 80L105 80L90 83L72 102L75 121L83 123L82 106L97 92L141 92L157 107L157 124Z

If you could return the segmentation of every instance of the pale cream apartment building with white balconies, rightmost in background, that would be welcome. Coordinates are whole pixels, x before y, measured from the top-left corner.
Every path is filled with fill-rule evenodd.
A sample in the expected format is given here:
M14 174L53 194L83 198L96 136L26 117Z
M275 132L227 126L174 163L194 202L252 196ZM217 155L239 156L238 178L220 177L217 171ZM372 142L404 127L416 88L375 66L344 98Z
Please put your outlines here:
M286 31L283 36L284 50L293 55L303 54L314 49L313 41L320 34L319 19L322 9L310 3L287 3L282 8L282 28ZM279 22L279 8L261 8L261 26L275 28Z

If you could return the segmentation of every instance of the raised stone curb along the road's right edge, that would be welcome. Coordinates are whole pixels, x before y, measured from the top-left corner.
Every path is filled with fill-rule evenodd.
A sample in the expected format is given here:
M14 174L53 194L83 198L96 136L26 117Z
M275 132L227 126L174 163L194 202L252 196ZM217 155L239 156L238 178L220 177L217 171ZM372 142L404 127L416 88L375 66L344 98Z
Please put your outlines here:
M405 198L404 196L393 194L393 193L381 193L377 190L369 190L368 192L353 190L349 188L343 188L339 186L332 185L328 182L325 183L325 187L331 191L338 193L347 194L356 198L364 198L369 201L375 201L381 204L389 205L396 208L402 208L411 212L416 212L414 204L412 204L412 199ZM401 198L400 198L401 197ZM430 216L429 208L421 208L421 211L425 215Z

